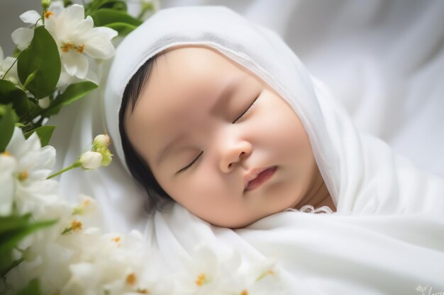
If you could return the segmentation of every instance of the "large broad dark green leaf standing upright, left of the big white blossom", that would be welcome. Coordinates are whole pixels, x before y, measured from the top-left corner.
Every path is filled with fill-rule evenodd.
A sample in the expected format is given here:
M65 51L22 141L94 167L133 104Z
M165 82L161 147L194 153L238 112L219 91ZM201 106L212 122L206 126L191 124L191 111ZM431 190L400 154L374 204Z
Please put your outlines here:
M26 89L33 93L36 99L44 98L55 91L60 69L57 44L45 27L36 28L30 46L18 57L18 78L21 83L27 83Z

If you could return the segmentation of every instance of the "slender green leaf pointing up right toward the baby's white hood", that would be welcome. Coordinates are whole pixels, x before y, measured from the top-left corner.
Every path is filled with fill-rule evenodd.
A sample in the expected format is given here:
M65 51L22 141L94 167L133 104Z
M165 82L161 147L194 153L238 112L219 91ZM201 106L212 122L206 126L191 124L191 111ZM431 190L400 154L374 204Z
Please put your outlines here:
M51 105L42 112L43 117L49 117L50 115L55 115L60 111L63 105L69 105L70 103L82 98L90 91L97 88L96 83L90 81L83 81L79 83L74 83L68 86L64 93L58 95L54 100L52 100Z

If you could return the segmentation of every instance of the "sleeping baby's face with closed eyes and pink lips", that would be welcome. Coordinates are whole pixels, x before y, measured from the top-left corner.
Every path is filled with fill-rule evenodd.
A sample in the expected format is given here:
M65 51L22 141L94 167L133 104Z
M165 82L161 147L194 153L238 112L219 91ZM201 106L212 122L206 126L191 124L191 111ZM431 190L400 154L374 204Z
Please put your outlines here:
M295 207L320 175L292 108L209 47L160 55L125 120L165 192L217 226L243 227Z

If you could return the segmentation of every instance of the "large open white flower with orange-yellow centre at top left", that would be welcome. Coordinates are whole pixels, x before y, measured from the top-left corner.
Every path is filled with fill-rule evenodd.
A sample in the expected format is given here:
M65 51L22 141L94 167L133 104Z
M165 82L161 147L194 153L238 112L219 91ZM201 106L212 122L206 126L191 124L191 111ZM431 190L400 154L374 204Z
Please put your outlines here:
M54 37L62 64L70 76L84 79L88 73L87 56L109 59L115 53L111 39L117 32L111 28L94 28L91 16L84 18L84 7L74 4L49 16L45 28Z

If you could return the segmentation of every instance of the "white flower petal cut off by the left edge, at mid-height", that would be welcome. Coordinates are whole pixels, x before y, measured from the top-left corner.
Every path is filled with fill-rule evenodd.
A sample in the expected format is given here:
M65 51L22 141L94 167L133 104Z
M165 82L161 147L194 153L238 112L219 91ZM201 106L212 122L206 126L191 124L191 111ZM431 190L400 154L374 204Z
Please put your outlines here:
M0 216L11 214L14 192L13 173L16 170L16 159L9 153L0 154Z

